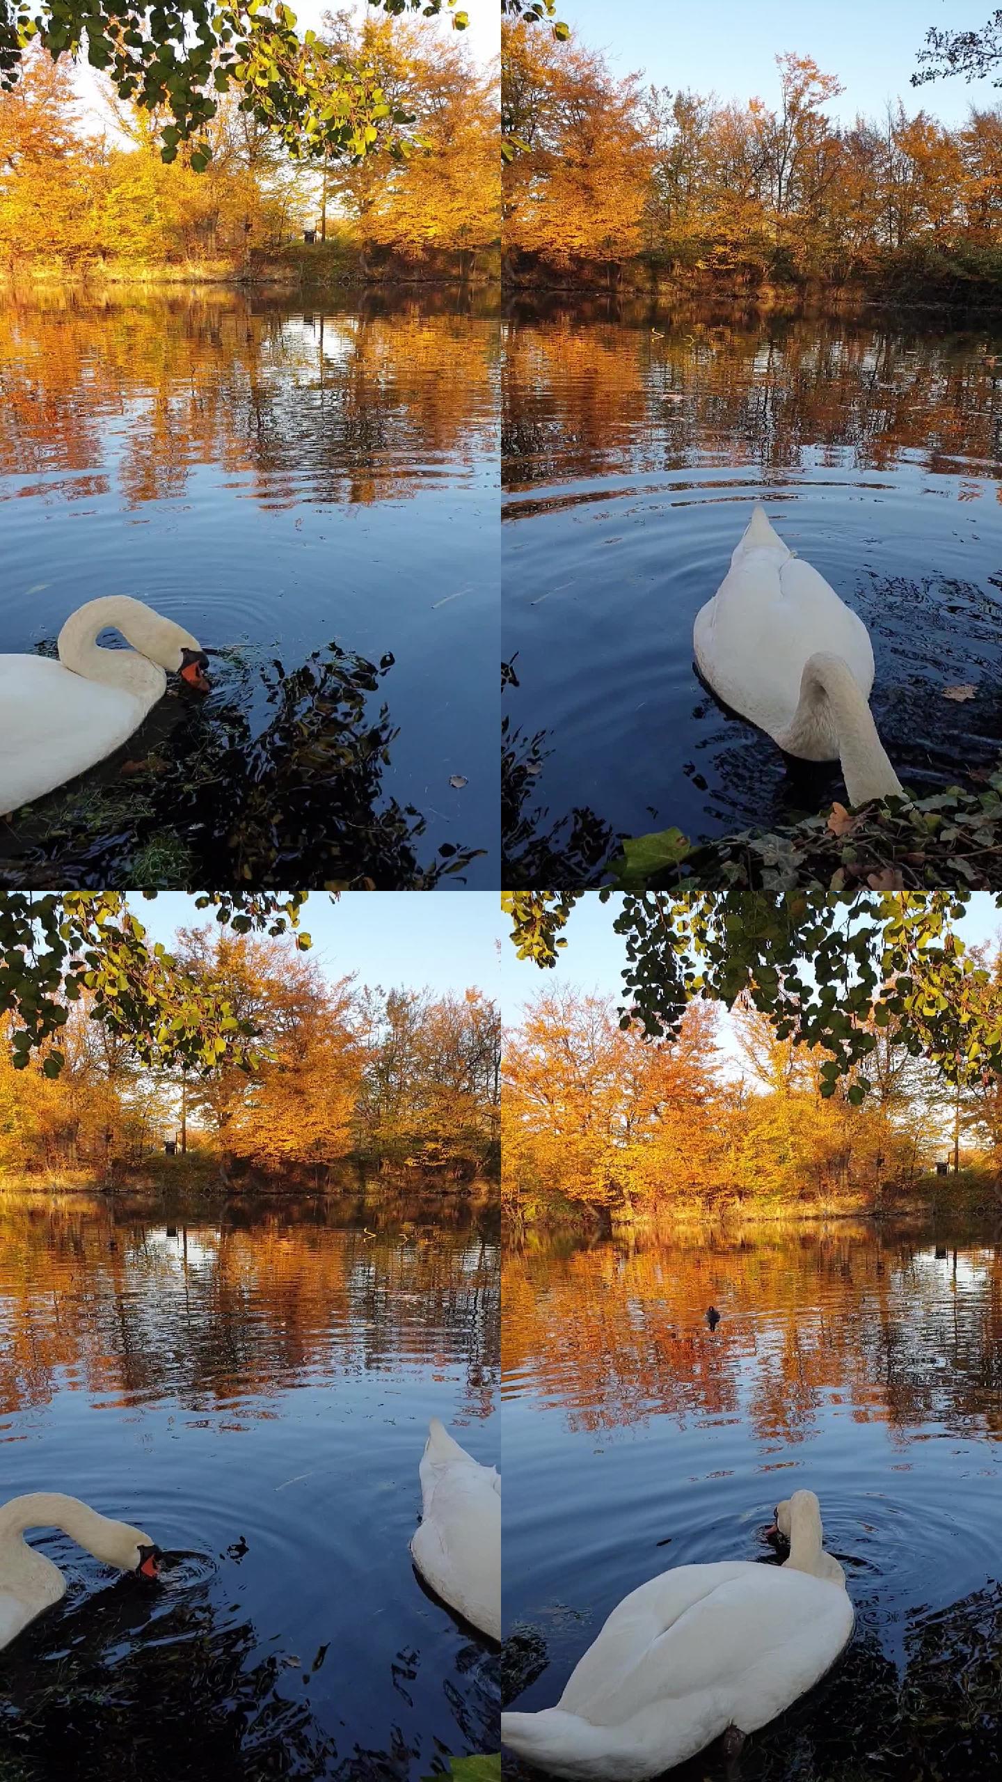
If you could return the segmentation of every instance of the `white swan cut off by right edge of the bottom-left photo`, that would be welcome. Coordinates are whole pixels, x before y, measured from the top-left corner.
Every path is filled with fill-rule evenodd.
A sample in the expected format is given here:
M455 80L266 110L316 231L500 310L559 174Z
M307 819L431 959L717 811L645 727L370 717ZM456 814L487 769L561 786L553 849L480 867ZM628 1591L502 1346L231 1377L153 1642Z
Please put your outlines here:
M437 1417L421 1456L421 1527L410 1554L437 1597L501 1639L501 1479Z

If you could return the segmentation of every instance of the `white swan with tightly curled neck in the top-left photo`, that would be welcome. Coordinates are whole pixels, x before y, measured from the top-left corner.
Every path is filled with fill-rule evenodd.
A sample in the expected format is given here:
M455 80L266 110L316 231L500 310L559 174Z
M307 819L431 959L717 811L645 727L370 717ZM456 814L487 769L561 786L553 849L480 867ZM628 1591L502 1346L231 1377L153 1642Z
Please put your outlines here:
M130 650L98 647L116 627ZM111 756L164 697L166 670L205 693L207 658L143 601L87 601L59 633L59 661L0 656L0 813L16 811Z

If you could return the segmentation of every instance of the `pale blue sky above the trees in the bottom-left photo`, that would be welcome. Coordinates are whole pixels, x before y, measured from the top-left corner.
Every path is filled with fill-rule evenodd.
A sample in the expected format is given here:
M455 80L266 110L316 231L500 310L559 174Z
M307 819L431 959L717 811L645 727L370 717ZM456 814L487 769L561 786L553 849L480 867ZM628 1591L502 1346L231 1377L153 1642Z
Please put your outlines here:
M130 895L132 909L155 941L171 944L178 927L214 920L194 898L160 891ZM403 985L435 993L481 989L497 993L497 943L505 934L496 891L349 891L332 903L310 893L301 927L312 936L314 959L330 978L349 971L360 984ZM505 943L510 944L510 943Z

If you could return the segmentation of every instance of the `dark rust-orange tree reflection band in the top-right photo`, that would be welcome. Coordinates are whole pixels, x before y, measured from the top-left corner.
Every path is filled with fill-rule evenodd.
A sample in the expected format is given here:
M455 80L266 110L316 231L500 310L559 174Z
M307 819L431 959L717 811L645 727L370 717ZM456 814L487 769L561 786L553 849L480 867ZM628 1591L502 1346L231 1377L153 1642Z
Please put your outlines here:
M1000 367L981 337L924 337L843 319L749 317L512 324L505 385L508 486L560 474L701 463L927 472L975 460L998 478Z

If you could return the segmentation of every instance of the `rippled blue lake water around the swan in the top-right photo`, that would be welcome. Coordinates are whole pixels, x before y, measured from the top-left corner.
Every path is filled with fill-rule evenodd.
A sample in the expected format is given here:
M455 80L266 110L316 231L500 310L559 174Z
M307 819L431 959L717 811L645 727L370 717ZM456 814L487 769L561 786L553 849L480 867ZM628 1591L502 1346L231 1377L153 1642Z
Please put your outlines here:
M872 707L902 782L929 793L995 763L997 323L522 308L505 344L519 759L546 732L524 829L551 834L578 809L603 834L710 838L845 797L838 763L792 770L695 674L694 618L754 501L866 622ZM959 684L975 697L943 699Z

